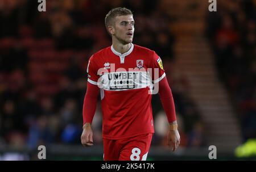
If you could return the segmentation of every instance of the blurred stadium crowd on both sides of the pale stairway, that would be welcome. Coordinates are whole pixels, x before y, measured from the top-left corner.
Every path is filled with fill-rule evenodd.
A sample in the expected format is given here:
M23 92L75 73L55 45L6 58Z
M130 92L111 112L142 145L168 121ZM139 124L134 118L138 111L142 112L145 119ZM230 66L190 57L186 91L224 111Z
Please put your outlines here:
M195 102L183 90L187 79L172 77L175 36L163 1L56 0L38 12L34 0L0 1L0 145L80 144L82 103L89 57L111 45L106 13L117 6L134 12L134 43L162 57L174 94L181 146L203 146L204 125ZM225 14L209 15L207 35L214 47L220 78L230 91L246 139L255 137L255 3L236 1ZM251 2L251 1L246 1ZM241 5L242 3L242 5ZM236 6L235 6L236 5ZM101 144L98 101L94 142ZM158 95L152 98L155 136L164 145L166 116ZM166 123L167 125L163 125ZM251 132L248 132L251 131Z

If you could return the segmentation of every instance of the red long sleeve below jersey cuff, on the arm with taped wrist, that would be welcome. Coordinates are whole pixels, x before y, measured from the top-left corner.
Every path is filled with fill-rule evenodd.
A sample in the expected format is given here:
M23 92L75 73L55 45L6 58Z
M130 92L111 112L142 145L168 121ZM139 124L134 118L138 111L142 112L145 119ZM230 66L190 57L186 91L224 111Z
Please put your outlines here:
M159 96L169 123L176 121L174 98L167 78L164 77L159 82Z

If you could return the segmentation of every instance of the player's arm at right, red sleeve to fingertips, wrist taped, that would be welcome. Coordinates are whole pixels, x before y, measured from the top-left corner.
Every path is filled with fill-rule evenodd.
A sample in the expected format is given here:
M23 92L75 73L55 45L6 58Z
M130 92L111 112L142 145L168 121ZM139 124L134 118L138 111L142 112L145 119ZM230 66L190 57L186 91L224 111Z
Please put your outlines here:
M168 145L175 151L180 144L180 135L177 130L174 98L166 77L159 81L159 96L169 122Z

